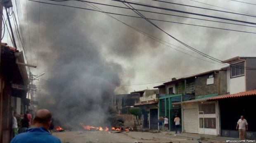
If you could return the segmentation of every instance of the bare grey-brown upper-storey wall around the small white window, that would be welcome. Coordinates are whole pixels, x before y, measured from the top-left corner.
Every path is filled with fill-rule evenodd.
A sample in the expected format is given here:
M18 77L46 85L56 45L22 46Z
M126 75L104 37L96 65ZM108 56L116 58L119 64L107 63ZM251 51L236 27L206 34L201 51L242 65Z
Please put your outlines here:
M207 78L210 74L214 76L214 83L206 85ZM216 74L210 73L202 76L198 76L195 79L195 96L210 95L218 93L218 72Z

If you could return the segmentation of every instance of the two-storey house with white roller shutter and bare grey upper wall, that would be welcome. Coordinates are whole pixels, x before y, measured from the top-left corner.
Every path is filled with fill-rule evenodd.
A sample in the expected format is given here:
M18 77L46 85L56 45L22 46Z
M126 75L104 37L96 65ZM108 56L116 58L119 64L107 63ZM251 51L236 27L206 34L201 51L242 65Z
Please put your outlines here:
M208 102L205 98L226 94L226 80L226 69L219 69L174 79L155 87L160 90L166 85L166 93L171 95L170 97L179 98L178 95L180 95L180 101L168 99L166 101L171 100L171 104L164 103L165 108L170 110L170 113L167 113L170 119L170 129L174 129L173 119L175 115L178 115L182 119L184 132L218 135L218 103ZM163 106L160 100L159 103L159 113L161 113Z

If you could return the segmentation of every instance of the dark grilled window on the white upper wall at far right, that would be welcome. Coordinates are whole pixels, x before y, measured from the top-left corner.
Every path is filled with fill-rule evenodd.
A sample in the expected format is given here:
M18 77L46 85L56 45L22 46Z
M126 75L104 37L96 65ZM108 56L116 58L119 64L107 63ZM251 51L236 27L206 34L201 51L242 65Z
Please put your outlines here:
M244 62L230 65L230 77L244 76Z

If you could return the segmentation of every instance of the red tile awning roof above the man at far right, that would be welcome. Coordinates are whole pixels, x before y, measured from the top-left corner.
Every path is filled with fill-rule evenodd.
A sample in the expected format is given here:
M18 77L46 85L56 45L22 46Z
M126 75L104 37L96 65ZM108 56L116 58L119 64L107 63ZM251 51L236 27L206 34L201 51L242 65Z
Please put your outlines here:
M235 93L235 94L231 94L231 95L218 95L215 97L211 97L207 100L218 100L218 99L253 96L253 95L254 96L256 95L256 90L249 90L249 91L239 92L239 93Z

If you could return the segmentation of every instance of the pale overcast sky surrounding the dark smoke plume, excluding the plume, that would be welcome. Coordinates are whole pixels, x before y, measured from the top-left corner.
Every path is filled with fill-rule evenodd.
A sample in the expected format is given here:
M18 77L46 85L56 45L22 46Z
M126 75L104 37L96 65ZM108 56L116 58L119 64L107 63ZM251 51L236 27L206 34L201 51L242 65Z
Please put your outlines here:
M39 0L38 0L39 1ZM44 2L51 2L48 0L41 0ZM113 2L110 0L91 0L94 2L101 2L111 5L119 5L125 7L120 2ZM255 17L242 16L237 14L228 14L224 12L213 12L205 9L197 9L192 7L172 5L162 2L154 2L152 0L134 0L136 2L142 2L150 5L155 5L159 7L172 8L177 10L183 10L186 12L194 12L200 14L208 14L212 16L220 16L225 18L237 19L242 21L250 21L256 23ZM170 0L168 0L170 1ZM216 5L219 7L225 7L227 9L232 9L235 11L240 11L244 13L256 15L255 5L249 5L245 3L235 2L231 0L198 0L200 2L205 2L211 5ZM254 0L244 0L250 3L256 3ZM27 2L27 5L26 5ZM226 9L221 9L209 5L204 5L191 0L171 0L171 2L177 2L185 5L193 5L198 7L206 7L211 9L219 9L223 11L229 11ZM57 4L72 5L78 7L90 8L85 3L78 1L70 2L51 2ZM28 11L27 11L28 7ZM137 16L133 11L127 9L119 9L114 7L107 7L102 5L97 5L107 12L114 12L120 14L128 14ZM190 14L181 14L178 12L168 12L165 10L146 8L141 6L133 5L137 9L145 9L154 12L163 12L168 14L175 14L180 16L189 16L194 18L204 18L216 21L223 21L214 18L206 18L202 16L195 16ZM37 65L37 69L33 69L34 74L40 74L45 72L46 74L43 78L48 79L52 77L52 62L55 62L55 55L51 54L52 49L55 48L55 40L69 40L70 37L66 36L74 32L81 32L77 36L79 39L86 37L90 44L95 45L95 48L99 51L100 57L107 62L114 62L121 66L121 71L119 78L121 79L120 85L129 84L140 84L147 82L157 82L166 81L173 77L185 76L190 74L196 74L212 69L219 69L223 67L221 65L213 64L210 62L202 61L197 58L185 55L169 48L161 43L158 43L149 37L142 35L141 33L129 28L128 26L116 21L115 19L106 16L100 12L92 12L83 9L74 9L70 7L61 7L55 5L40 4L31 1L22 1L21 3L22 16L24 21L24 28L26 35L28 35L29 24L29 34L31 40L31 52L28 51L28 55L31 55L28 62L32 65ZM40 21L39 21L39 9L40 9ZM52 10L51 10L52 9ZM27 17L28 12L28 17ZM232 12L232 11L229 11ZM166 16L160 14L152 14L147 12L142 12L148 18L156 18L166 21L175 21L182 23L190 23L197 25L213 26L218 28L227 28L233 30L241 30L248 32L256 32L255 28L230 25L224 23L216 23L209 21L200 21L190 18L180 18L175 16ZM115 18L139 29L144 32L149 33L159 39L166 42L186 48L185 46L179 44L174 39L161 32L153 25L145 21L144 19L126 17L126 16L116 16ZM28 18L28 21L27 21ZM45 22L47 21L47 22ZM48 21L55 21L49 24ZM56 22L57 21L57 22ZM219 30L212 28L203 28L192 25L182 25L177 23L167 23L161 21L153 21L160 28L173 35L177 39L185 42L186 44L200 50L206 54L209 54L220 60L225 60L235 56L255 56L256 50L256 34ZM238 23L232 21L225 21L230 23ZM66 23L60 25L59 23ZM245 24L245 23L239 23ZM38 48L38 26L39 28L39 48ZM255 25L254 25L255 26ZM48 31L59 32L59 30L70 29L69 32L61 33L59 36L49 36ZM72 31L73 30L73 31ZM58 34L58 33L57 33ZM76 36L75 33L72 33ZM50 38L49 38L50 37ZM7 41L5 36L2 40ZM75 40L73 42L79 42ZM9 44L11 42L9 41ZM27 38L28 45L28 38ZM72 44L71 44L72 45ZM76 44L73 44L76 45ZM70 46L70 45L69 45ZM170 45L171 46L171 45ZM175 46L172 46L176 48ZM39 50L38 50L39 49ZM70 46L69 48L64 48L64 50L76 50L76 47ZM179 49L179 48L177 48ZM186 48L187 49L187 48ZM180 49L182 50L182 49ZM187 49L189 50L189 49ZM182 50L184 51L184 50ZM56 51L55 51L56 52ZM54 52L54 53L55 53ZM197 56L198 58L206 59L200 55L184 51L191 55ZM72 55L73 56L73 55ZM29 56L30 57L30 56ZM211 60L209 60L211 61ZM56 66L56 65L55 65ZM61 66L61 65L60 65ZM74 71L75 72L75 71ZM90 81L86 81L90 82ZM39 90L45 88L47 81L40 79L37 83ZM128 93L134 90L144 90L146 88L152 89L156 85L161 85L161 83L153 84L143 84L143 85L130 85L121 86L115 90L116 93ZM47 89L46 89L47 90ZM43 90L45 91L45 90Z

